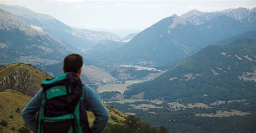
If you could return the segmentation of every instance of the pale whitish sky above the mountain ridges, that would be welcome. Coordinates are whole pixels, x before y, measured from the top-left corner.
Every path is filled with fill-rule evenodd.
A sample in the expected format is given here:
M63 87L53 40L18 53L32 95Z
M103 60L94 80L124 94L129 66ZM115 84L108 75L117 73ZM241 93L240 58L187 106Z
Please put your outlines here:
M0 0L0 4L25 6L73 27L124 35L142 31L174 13L180 16L193 9L204 12L251 9L256 7L256 0Z

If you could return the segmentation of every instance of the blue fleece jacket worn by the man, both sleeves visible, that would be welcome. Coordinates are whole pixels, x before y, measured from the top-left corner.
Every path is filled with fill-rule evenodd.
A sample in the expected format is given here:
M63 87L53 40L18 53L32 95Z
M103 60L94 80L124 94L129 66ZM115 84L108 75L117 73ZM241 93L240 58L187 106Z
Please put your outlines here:
M95 121L91 127L92 132L101 132L109 119L109 110L103 105L97 92L89 86L83 86L81 97L86 101L86 109L95 115ZM22 111L25 124L36 132L36 113L38 112L43 100L43 89L41 88L30 100Z

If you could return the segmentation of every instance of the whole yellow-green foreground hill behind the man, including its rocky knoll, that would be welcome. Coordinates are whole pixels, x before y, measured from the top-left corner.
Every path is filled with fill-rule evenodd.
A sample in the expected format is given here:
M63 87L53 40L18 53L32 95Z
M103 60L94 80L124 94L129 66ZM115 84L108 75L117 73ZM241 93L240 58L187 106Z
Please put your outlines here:
M0 132L30 132L22 120L21 112L32 98L28 95L35 94L45 78L52 77L27 64L10 64L0 68ZM157 132L134 116L127 116L108 105L105 107L111 116L103 131L105 133L124 130ZM94 120L92 112L88 112L88 120L91 125Z

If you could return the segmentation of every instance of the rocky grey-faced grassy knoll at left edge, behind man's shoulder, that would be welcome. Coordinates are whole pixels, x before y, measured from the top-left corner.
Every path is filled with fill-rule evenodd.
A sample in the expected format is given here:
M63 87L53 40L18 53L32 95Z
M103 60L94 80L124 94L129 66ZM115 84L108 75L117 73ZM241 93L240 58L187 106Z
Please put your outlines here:
M52 78L39 69L20 63L2 66L0 75L0 91L12 89L31 97L41 88L42 80Z

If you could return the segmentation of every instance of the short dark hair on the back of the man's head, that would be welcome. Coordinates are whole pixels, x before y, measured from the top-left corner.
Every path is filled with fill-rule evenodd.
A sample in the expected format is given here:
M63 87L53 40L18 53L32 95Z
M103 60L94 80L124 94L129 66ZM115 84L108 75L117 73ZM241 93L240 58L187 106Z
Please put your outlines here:
M64 58L64 72L77 73L83 66L83 57L78 54L70 54Z

